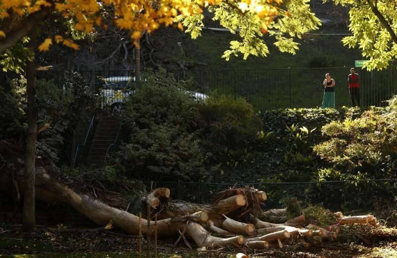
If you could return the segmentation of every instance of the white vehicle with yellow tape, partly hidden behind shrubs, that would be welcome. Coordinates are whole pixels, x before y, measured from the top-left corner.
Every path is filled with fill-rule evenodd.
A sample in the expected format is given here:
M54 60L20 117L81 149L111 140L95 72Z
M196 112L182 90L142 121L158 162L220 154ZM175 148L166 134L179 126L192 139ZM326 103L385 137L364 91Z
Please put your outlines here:
M105 106L110 106L112 112L120 112L123 99L135 93L135 90L132 90L133 83L135 82L135 76L113 76L101 78L101 80L103 81L101 95L104 99L102 102L102 108ZM129 88L131 90L128 90ZM203 93L192 91L186 92L196 100L205 100L207 98L207 95Z

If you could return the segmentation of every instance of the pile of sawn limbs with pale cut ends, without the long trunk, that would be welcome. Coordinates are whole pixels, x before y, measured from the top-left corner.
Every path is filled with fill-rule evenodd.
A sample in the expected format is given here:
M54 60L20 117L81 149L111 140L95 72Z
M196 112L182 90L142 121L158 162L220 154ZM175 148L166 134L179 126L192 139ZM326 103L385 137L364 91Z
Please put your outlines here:
M160 204L162 208L157 211L153 209L153 212L157 212L164 219L184 217L198 223L199 225L195 227L200 230L190 231L188 235L195 240L200 250L221 246L267 249L292 245L309 249L319 240L334 241L340 233L340 225L355 223L377 225L377 219L373 215L343 216L341 212L335 212L334 223L325 228L308 223L304 215L285 219L284 223L270 223L259 219L256 214L265 213L266 216L279 215L286 218L286 209L271 209L263 212L261 204L266 198L265 192L253 188L230 189L221 192L211 205L169 201L167 204ZM148 199L149 197L144 198L144 200ZM189 214L194 211L192 215ZM195 214L198 213L203 219L197 219ZM209 232L218 238L214 239ZM198 233L201 237L196 235ZM205 235L204 240L201 239L202 235ZM225 240L220 240L219 237Z

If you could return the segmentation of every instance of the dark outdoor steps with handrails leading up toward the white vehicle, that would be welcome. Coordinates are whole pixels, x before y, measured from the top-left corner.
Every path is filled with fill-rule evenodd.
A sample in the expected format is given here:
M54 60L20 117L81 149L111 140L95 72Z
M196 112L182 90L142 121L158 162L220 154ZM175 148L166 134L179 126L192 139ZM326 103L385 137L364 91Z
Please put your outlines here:
M106 152L109 146L116 141L119 128L119 119L108 114L102 115L96 127L94 139L88 153L88 165L103 165ZM112 148L109 148L109 152L111 151L110 149Z

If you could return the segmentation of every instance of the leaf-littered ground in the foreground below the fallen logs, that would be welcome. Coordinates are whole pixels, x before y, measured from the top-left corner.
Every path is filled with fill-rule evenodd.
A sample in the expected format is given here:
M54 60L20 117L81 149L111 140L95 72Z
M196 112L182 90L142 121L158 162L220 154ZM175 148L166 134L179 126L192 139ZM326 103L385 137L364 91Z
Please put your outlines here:
M352 228L353 227L353 228ZM182 244L174 246L175 239L160 239L159 257L203 258L235 257L244 252L257 258L393 258L397 257L397 229L370 229L368 226L346 227L340 242L326 242L309 251L290 246L287 249L243 250L221 249L197 252ZM0 258L134 258L138 257L138 237L111 230L102 232L67 232L39 227L34 233L22 233L12 227L0 231ZM152 238L153 240L153 238ZM152 245L152 257L154 257ZM146 241L143 240L143 255Z

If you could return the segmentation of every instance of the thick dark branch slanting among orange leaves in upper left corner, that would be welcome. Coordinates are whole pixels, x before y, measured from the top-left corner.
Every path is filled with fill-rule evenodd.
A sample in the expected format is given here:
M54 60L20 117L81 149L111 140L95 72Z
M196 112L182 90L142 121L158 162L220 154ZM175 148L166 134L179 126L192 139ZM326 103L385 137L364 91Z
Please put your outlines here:
M37 12L28 15L17 26L6 32L5 38L0 40L0 54L14 46L23 37L27 36L33 28L44 21L51 13L53 7L43 7Z

